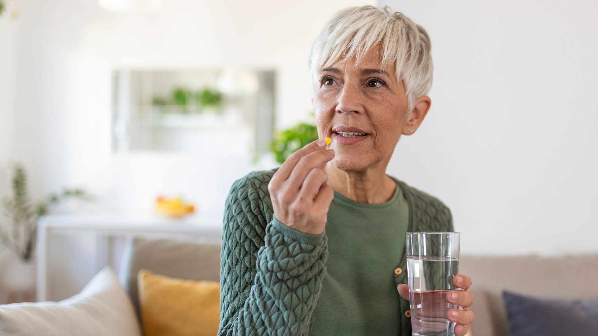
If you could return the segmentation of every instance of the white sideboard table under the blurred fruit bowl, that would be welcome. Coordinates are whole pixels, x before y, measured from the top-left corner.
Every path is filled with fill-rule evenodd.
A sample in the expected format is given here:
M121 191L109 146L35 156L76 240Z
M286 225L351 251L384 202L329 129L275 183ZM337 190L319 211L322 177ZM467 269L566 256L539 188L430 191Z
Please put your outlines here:
M221 218L191 216L43 216L38 221L37 301L77 294L106 265L118 271L130 235L219 241Z

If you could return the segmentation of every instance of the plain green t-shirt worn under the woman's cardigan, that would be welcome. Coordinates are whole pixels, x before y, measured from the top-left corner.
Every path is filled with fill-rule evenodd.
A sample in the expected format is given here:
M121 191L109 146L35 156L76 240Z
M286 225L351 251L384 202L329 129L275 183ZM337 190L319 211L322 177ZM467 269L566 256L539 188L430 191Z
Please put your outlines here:
M380 204L334 192L325 229L327 273L312 335L398 334L401 311L394 271L405 249L408 216L398 185L392 198Z

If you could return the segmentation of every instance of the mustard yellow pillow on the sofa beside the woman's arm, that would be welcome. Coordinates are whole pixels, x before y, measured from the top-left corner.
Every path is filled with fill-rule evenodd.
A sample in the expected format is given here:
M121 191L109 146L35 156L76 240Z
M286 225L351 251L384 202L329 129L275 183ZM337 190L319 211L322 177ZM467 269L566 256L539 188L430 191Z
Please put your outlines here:
M175 279L141 270L138 286L145 336L218 334L218 282Z

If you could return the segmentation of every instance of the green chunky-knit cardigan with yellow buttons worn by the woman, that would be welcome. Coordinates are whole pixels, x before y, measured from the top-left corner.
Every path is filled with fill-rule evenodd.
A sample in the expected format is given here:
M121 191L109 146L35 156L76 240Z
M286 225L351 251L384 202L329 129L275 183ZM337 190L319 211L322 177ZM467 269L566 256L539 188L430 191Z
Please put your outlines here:
M268 183L276 169L253 172L234 182L225 204L220 269L218 335L311 335L326 273L325 232L303 233L273 216ZM409 206L408 231L453 231L448 207L422 191L395 181ZM406 257L397 267L406 268ZM400 273L400 274L396 274ZM395 272L407 283L407 272ZM401 311L409 301L400 298ZM402 330L411 335L408 313Z

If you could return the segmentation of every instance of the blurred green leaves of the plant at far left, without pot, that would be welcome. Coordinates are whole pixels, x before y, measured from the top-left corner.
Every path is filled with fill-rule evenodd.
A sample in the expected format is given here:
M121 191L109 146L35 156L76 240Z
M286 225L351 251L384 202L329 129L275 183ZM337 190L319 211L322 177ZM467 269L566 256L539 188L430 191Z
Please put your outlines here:
M13 197L2 198L4 214L10 222L0 222L0 244L23 261L28 261L32 256L39 216L47 215L51 207L66 198L93 199L84 190L64 189L60 194L49 194L45 200L34 203L29 200L27 173L22 164L14 164L11 186Z

